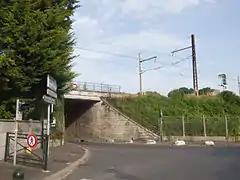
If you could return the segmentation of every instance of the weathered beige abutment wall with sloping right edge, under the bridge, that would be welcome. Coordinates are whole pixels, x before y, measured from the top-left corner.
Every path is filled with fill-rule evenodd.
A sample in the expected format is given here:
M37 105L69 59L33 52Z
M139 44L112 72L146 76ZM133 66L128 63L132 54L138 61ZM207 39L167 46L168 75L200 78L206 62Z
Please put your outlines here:
M66 140L78 138L84 141L130 141L157 139L158 136L123 115L107 102L98 102L81 108L74 106L74 114L66 118ZM72 112L73 114L73 109Z

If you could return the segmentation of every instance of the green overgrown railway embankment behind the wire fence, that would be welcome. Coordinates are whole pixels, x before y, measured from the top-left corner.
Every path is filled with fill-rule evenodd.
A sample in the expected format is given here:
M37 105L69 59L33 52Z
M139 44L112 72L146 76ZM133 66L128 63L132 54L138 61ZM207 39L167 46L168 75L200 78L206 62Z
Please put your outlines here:
M186 90L186 89L185 89ZM240 97L224 91L216 96L188 95L183 90L170 92L170 97L157 93L127 98L109 98L110 104L147 128L158 132L159 109L163 112L166 135L182 135L182 118L186 135L203 135L203 118L208 135L225 135L225 116L228 118L229 134L240 130ZM212 92L204 88L203 92ZM205 93L203 93L205 94Z

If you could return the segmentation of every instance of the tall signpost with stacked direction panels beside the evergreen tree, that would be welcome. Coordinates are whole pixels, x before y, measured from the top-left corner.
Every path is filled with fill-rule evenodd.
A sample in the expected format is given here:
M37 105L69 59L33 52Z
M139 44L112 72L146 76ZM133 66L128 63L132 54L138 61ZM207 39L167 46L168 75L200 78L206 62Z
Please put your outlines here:
M50 115L53 113L53 105L56 104L57 99L57 81L51 77L50 75L47 76L47 88L46 94L43 95L43 100L48 103L47 109L47 136L48 136L48 143L47 143L47 156L49 156L49 141L50 141Z

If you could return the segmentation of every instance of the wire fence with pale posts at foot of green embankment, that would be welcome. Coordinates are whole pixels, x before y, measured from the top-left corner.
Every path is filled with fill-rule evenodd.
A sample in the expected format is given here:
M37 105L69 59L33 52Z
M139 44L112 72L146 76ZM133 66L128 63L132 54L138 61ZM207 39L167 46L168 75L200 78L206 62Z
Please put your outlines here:
M163 116L164 136L240 136L240 117Z

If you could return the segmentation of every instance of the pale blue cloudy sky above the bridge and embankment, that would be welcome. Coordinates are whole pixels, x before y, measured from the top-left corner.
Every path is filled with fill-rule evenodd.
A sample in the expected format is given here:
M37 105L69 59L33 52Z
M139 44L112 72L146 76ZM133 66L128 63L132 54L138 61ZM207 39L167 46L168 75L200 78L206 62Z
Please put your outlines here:
M218 74L227 75L237 93L240 75L239 0L81 0L72 30L76 45L76 81L120 85L139 92L138 54L143 90L166 95L193 87L191 45L196 37L199 89L220 89ZM176 63L179 62L179 63ZM174 64L175 63L175 64ZM161 67L158 70L148 71Z

